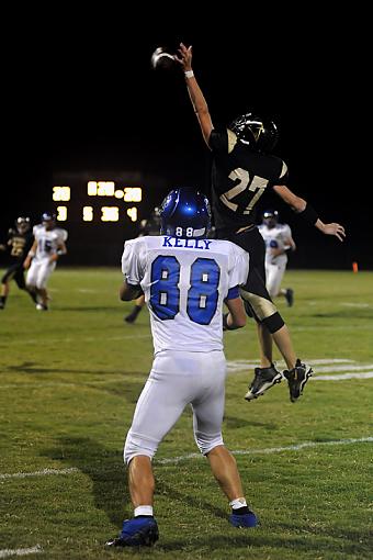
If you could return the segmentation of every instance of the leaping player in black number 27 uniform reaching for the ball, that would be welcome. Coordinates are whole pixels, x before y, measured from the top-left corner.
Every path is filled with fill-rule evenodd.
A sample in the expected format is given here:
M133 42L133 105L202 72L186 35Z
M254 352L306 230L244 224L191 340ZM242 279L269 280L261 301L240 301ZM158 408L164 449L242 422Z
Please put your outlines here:
M290 397L295 402L312 374L312 368L297 358L289 329L265 289L265 245L256 226L256 204L265 191L274 191L294 212L326 235L343 240L340 224L325 224L304 199L287 183L286 164L273 156L278 130L272 121L247 113L227 128L214 128L207 103L192 70L192 47L182 43L176 59L184 70L187 88L199 120L203 138L213 154L212 198L217 238L229 239L250 254L250 272L241 290L247 313L258 324L261 348L260 368L245 399L251 401L279 383L282 374L272 361L272 339L282 354L287 370ZM228 325L225 325L228 328Z

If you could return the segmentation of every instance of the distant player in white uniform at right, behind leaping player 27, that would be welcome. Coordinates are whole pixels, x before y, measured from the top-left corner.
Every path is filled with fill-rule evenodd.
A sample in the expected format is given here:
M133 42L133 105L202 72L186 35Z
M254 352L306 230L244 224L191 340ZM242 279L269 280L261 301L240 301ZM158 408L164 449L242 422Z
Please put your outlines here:
M291 307L294 302L294 290L281 288L282 278L287 265L287 250L295 250L295 242L287 224L279 223L279 212L263 212L259 232L265 243L265 284L271 298L282 295Z

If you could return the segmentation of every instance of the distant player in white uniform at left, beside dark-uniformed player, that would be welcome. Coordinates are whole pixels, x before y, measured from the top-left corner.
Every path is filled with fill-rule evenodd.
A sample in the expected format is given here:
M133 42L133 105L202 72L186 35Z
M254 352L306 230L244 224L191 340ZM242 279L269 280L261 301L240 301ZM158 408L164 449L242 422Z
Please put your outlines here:
M36 309L47 311L47 282L57 265L60 255L66 255L67 231L56 226L56 215L45 212L42 223L33 228L34 244L24 261L29 269L26 277L27 289L37 299Z

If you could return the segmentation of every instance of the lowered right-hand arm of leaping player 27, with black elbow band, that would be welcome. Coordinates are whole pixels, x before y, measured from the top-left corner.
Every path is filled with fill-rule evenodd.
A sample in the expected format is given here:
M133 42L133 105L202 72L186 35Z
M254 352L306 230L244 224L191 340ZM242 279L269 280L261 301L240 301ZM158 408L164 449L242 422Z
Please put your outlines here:
M286 202L296 213L301 215L308 224L314 225L325 235L335 235L340 242L346 237L344 227L335 222L325 224L317 215L316 211L307 201L301 199L284 184L276 184L273 190L279 197Z

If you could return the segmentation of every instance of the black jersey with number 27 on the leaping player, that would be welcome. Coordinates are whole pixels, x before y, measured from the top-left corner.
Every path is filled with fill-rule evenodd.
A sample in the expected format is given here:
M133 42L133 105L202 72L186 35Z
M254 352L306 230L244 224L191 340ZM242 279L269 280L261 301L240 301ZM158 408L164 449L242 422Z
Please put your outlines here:
M256 203L274 184L286 184L286 164L252 152L231 131L213 130L212 199L217 231L237 231L256 223Z

